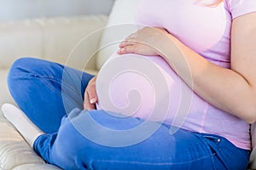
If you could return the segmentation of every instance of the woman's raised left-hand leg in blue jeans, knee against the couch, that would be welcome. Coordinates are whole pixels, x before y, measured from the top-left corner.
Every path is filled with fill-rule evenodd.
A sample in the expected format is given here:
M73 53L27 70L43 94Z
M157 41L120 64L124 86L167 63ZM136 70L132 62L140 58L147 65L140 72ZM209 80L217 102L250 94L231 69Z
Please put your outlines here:
M90 74L42 59L22 58L9 71L9 91L20 109L45 133L55 133L61 118L83 108Z

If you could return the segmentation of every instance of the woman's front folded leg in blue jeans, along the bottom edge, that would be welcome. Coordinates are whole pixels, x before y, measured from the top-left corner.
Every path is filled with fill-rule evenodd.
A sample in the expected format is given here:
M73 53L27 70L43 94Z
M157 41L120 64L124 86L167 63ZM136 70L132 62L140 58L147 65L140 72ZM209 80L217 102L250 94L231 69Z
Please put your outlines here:
M38 137L34 150L46 161L67 170L247 167L247 150L237 149L222 137L183 129L170 134L166 125L144 122L106 111L74 109L63 117L58 133ZM147 127L137 130L143 129L140 126ZM152 129L155 132L147 136ZM141 138L144 134L145 139Z

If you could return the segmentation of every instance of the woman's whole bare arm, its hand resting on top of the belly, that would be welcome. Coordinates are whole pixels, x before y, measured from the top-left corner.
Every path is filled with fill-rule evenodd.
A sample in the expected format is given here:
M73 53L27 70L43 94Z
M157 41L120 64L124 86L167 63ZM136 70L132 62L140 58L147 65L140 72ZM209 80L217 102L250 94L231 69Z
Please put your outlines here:
M119 54L160 55L196 94L247 122L256 121L256 13L232 20L231 69L214 65L163 28L143 27L121 42ZM247 38L245 38L247 37Z

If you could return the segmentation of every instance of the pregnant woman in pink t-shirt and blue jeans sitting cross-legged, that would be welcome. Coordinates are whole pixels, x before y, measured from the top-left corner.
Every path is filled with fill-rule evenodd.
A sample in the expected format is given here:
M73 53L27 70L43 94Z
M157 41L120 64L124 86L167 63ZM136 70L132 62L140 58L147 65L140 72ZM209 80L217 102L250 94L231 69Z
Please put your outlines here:
M254 20L255 0L143 0L143 28L96 77L15 61L9 89L26 115L5 116L63 169L246 169L256 120Z

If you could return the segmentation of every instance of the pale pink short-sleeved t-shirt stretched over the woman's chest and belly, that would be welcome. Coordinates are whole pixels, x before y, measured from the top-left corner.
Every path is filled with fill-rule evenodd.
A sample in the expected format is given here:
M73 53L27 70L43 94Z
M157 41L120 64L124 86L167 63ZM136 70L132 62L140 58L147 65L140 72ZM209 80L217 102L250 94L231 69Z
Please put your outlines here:
M163 27L212 63L230 68L231 22L254 11L255 0L224 0L217 7L197 0L142 0L137 24ZM104 110L218 134L237 147L251 148L249 125L201 99L160 56L113 54L99 72L97 87L99 108Z

